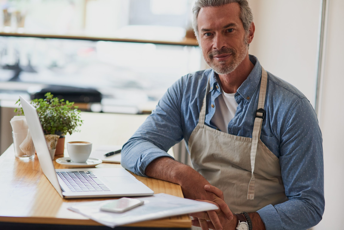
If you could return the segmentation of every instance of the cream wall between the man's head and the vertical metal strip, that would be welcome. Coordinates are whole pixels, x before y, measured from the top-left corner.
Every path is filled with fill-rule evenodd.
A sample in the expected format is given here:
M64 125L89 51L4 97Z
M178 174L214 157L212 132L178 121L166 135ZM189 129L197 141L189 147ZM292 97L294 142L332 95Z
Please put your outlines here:
M256 32L249 53L314 101L320 0L250 0Z

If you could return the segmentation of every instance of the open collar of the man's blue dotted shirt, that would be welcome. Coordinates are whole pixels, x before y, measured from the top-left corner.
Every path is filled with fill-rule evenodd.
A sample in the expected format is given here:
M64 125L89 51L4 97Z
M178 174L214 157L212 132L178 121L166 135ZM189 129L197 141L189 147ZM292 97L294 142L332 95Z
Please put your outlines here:
M247 76L247 79L243 82L243 84L240 85L240 87L237 90L237 93L239 93L246 101L251 100L252 95L255 92L261 78L261 65L257 57L253 55L249 55L249 59L252 62L252 64L254 64L255 66L253 67L251 73ZM210 83L209 92L213 90L217 90L221 93L217 74L214 72L214 70L212 70L209 83Z

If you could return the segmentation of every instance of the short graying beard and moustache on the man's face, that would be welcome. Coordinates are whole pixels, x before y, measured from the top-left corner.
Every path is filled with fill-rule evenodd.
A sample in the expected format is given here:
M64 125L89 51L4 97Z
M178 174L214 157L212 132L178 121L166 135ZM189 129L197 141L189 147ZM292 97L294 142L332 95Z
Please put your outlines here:
M234 50L231 48L223 48L221 50L214 50L204 57L205 62L214 70L217 74L228 74L232 73L240 64L244 61L248 51L248 35L245 34L245 39L240 50ZM232 61L226 64L226 61L214 61L215 55L220 54L232 54Z

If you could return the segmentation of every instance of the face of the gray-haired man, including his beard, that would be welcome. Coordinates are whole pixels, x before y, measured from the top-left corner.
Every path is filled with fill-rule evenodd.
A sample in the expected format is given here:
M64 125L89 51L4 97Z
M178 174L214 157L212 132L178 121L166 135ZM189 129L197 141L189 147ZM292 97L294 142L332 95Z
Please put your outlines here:
M205 62L218 74L233 72L248 52L239 4L201 8L197 22Z

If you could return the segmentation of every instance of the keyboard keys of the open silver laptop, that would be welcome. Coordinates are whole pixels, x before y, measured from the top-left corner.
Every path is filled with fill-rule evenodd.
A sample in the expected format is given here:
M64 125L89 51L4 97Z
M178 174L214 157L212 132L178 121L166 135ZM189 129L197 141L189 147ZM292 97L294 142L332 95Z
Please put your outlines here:
M56 172L72 192L110 191L92 171Z

